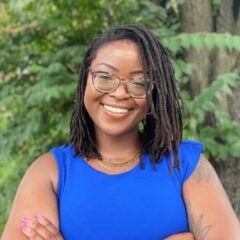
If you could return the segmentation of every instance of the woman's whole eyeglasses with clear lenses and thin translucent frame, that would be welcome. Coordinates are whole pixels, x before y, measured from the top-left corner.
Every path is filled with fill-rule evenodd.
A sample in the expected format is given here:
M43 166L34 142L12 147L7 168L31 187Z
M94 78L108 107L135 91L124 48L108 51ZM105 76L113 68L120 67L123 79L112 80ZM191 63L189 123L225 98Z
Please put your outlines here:
M92 74L94 88L101 93L115 91L121 81L126 81L127 92L133 98L145 98L153 89L153 84L146 79L125 79L107 72L93 71L92 69L89 69L89 72Z

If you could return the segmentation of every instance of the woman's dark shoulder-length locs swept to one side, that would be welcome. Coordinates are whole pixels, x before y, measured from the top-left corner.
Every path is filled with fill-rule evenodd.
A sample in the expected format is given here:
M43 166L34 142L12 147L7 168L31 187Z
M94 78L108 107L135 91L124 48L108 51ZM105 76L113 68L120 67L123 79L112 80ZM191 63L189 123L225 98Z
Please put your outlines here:
M172 167L179 166L177 149L182 140L182 102L174 70L168 51L148 29L139 25L112 28L91 42L80 69L69 143L76 155L101 159L96 148L94 125L84 106L84 92L89 67L97 51L103 45L117 40L130 40L137 44L144 73L154 86L147 98L149 112L141 133L141 151L149 152L154 167L165 153L170 155Z

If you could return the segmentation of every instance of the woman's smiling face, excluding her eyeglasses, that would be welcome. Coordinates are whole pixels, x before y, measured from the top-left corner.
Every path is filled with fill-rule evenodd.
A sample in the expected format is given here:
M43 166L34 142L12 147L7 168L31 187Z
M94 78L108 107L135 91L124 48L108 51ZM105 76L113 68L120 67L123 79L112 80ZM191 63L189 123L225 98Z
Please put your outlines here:
M103 45L93 59L90 69L124 79L143 78L143 66L138 46L128 40L118 40ZM91 117L96 136L136 134L138 123L144 118L147 99L131 97L126 82L110 93L101 93L93 86L92 73L88 73L84 105ZM100 135L99 135L100 134Z

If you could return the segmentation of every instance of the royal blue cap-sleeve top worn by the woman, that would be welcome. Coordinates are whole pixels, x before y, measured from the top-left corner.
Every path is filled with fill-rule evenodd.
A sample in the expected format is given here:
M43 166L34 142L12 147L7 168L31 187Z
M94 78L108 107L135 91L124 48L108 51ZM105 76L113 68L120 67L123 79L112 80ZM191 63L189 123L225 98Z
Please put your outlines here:
M60 231L65 240L160 240L188 232L183 200L184 181L194 171L203 145L183 141L180 169L169 173L165 156L153 170L148 154L145 169L109 175L98 171L71 146L51 149L58 166Z

